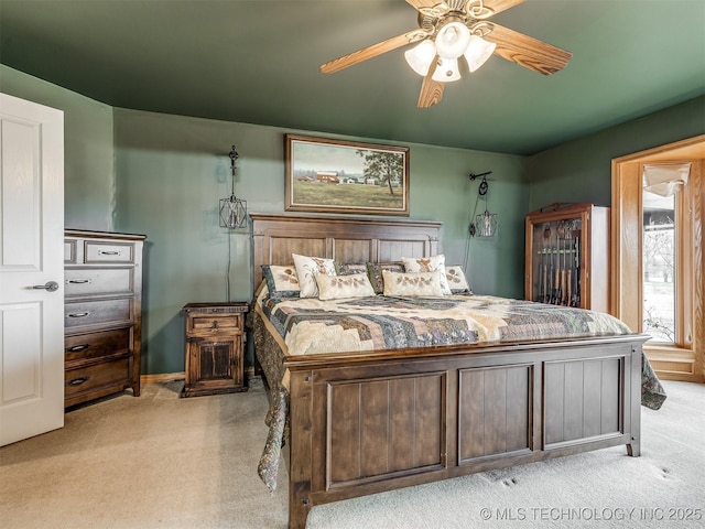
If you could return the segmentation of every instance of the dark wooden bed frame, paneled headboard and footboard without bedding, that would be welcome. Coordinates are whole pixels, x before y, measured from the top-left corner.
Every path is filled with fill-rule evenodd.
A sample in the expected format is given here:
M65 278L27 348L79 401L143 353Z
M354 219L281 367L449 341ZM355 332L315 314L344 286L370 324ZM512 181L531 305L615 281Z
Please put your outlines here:
M252 214L261 264L438 251L441 224ZM643 335L289 357L289 527L314 505L623 444L639 455Z

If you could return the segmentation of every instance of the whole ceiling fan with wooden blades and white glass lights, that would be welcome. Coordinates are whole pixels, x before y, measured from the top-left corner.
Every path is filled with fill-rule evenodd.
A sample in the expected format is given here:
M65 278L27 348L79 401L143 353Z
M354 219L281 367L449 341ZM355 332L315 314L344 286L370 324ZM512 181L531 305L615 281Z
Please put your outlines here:
M335 58L323 64L321 72L332 74L419 43L404 53L409 65L423 76L419 108L440 102L445 84L460 78L458 60L475 72L496 54L540 74L554 74L568 63L570 52L487 20L523 1L406 0L419 11L419 29Z

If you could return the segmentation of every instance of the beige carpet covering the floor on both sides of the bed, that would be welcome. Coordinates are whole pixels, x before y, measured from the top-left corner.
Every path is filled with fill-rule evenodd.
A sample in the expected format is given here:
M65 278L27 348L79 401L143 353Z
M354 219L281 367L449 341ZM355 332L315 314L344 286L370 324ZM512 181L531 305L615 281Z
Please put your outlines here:
M0 527L285 528L286 471L257 477L261 382L180 399L148 385L72 411L63 430L0 449ZM664 382L623 447L314 507L310 529L705 527L705 386Z

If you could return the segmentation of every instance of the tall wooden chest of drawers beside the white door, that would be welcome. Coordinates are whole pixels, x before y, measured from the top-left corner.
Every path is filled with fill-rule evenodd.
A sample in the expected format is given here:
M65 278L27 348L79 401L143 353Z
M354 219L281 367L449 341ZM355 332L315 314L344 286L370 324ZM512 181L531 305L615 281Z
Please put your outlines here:
M140 395L145 236L67 229L64 406Z

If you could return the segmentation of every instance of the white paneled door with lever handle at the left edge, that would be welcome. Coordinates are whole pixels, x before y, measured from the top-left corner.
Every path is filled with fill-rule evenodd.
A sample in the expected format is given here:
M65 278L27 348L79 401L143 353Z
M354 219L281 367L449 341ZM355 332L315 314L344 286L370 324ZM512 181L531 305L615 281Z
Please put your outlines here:
M64 425L63 241L64 114L0 94L0 446Z

